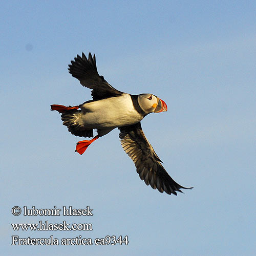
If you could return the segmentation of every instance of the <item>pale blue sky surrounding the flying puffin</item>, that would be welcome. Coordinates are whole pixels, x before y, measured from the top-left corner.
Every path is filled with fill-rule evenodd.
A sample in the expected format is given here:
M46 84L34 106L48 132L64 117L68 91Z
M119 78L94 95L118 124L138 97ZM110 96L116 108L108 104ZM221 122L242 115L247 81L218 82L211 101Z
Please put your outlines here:
M254 255L256 194L254 1L8 1L2 57L2 255ZM153 93L168 112L142 127L181 185L168 196L139 179L118 131L80 156L80 138L50 104L91 99L68 73L96 54L120 91ZM94 209L29 217L11 208ZM92 231L14 231L11 223L92 223ZM20 238L128 236L129 245L11 246Z

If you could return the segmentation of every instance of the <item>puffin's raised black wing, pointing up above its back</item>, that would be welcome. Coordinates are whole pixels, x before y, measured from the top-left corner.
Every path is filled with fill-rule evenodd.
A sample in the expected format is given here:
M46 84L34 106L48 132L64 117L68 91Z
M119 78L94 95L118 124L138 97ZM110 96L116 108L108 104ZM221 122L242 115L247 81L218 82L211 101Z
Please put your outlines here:
M92 89L92 97L94 100L122 94L122 92L112 87L103 76L98 74L95 54L92 57L92 54L89 53L88 59L83 53L82 57L77 55L75 61L71 60L69 73L77 78L82 86Z

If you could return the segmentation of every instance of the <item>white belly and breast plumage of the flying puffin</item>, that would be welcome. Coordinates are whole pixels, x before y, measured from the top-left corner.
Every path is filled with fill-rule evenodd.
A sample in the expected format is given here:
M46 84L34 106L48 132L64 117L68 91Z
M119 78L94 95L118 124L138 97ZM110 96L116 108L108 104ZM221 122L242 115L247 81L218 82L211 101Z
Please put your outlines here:
M76 122L86 129L113 130L116 127L135 124L143 117L134 109L131 96L112 97L84 103L82 112L76 116Z

